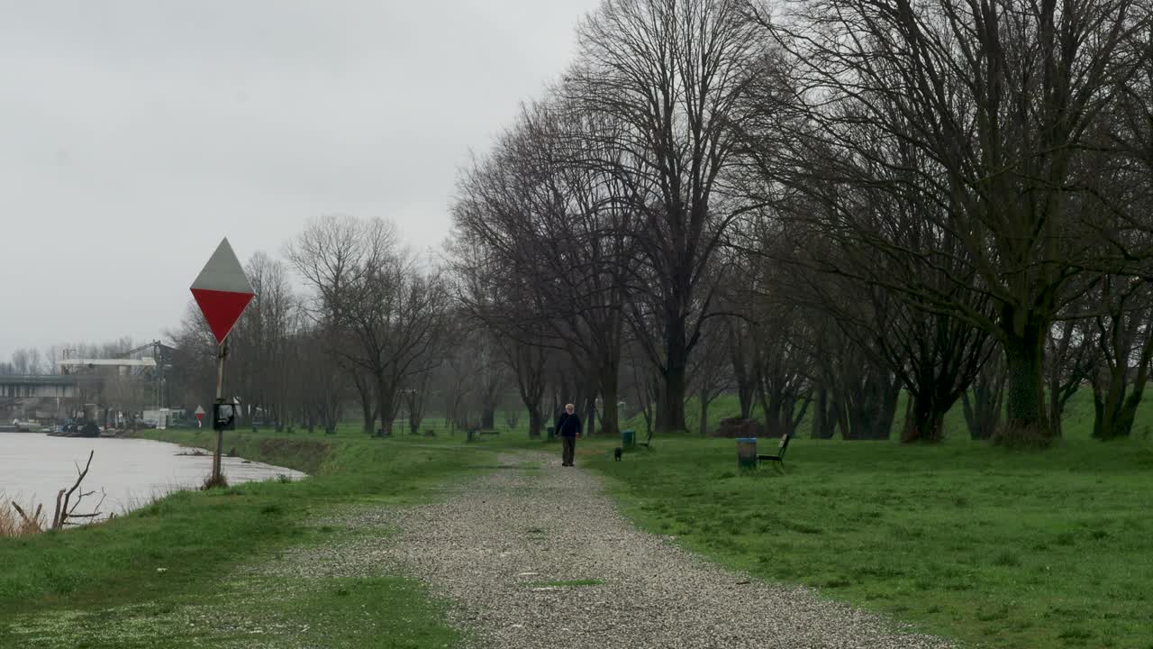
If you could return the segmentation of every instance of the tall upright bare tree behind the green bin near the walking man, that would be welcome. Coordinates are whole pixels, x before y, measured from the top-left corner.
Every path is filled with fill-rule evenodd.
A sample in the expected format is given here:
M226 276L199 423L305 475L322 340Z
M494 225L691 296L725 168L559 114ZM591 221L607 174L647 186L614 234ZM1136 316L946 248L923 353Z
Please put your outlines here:
M684 430L689 355L714 311L710 264L743 209L723 181L764 42L738 1L608 0L579 43L563 92L621 125L615 136L632 154L616 171L642 216L633 329L663 378L657 428Z

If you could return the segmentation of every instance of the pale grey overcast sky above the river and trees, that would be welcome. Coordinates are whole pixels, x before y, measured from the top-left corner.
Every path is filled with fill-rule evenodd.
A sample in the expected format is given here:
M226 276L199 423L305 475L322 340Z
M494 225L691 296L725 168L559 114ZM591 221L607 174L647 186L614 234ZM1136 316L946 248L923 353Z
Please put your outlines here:
M457 170L597 0L0 0L0 360L152 340L220 238L306 219L439 247Z

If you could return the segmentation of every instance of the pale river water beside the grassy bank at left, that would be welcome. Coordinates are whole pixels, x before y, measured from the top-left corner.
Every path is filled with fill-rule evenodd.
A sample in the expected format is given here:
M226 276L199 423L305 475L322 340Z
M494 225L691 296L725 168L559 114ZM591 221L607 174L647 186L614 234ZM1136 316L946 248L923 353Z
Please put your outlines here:
M103 492L107 495L101 513L120 515L173 491L196 488L212 471L212 456L180 455L189 450L174 443L142 439L0 433L0 494L3 494L0 500L15 499L22 507L43 502L46 517L51 519L56 492L75 484L76 464L83 469L89 452L95 452L82 488L96 491L96 495L85 499L76 513L90 513ZM240 457L223 457L221 461L229 484L266 480L278 475L293 479L304 477L300 471L246 462Z

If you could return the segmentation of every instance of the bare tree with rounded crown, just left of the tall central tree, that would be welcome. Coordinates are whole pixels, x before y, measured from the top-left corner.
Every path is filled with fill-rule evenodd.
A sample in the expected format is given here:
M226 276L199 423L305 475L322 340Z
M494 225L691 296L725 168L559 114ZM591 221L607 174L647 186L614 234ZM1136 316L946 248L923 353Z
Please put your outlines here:
M616 434L623 312L636 266L626 152L611 121L565 102L526 107L460 182L452 247L460 299L520 345L568 355L572 387ZM568 397L572 398L572 397ZM591 428L590 417L587 422Z

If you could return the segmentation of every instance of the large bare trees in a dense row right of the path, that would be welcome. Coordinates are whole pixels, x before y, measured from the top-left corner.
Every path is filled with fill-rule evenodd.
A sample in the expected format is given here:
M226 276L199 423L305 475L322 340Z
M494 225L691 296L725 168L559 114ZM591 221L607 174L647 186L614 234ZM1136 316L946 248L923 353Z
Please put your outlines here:
M460 304L658 431L1123 437L1153 358L1148 0L606 0L462 173ZM541 371L540 368L544 370ZM553 389L556 389L553 387ZM902 393L905 411L897 412ZM703 425L703 424L702 424Z

